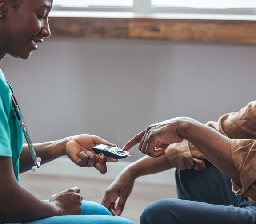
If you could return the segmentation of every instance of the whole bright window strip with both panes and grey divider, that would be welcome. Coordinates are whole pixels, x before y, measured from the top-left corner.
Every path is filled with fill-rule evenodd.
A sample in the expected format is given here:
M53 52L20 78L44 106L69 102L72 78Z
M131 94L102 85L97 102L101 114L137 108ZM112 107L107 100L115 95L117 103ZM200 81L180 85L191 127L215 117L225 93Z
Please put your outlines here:
M256 14L256 0L54 0L53 6L56 10Z

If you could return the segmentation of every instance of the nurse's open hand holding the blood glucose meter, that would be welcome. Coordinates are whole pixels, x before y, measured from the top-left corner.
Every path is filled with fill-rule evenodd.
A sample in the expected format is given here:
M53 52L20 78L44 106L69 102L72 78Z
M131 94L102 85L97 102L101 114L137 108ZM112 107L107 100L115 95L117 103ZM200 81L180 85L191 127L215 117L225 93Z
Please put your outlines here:
M65 154L80 167L95 167L100 173L107 172L106 162L117 162L117 159L105 157L104 154L96 154L92 147L96 144L115 146L95 135L77 135L68 140Z

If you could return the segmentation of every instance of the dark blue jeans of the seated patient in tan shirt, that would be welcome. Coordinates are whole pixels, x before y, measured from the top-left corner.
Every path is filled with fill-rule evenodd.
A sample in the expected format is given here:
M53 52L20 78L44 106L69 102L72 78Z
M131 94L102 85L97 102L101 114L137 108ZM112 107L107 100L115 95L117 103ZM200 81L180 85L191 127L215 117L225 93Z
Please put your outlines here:
M179 199L149 205L140 224L256 224L256 205L232 192L231 180L211 163L204 171L176 170Z

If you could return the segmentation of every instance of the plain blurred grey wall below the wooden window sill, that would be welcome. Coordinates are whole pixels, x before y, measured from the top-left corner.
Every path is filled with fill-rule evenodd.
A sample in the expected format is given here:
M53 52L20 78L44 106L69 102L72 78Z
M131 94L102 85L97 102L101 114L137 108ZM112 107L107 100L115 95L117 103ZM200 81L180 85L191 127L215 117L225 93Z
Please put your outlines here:
M152 123L216 120L256 96L255 45L50 38L1 67L33 142L90 133L122 147Z

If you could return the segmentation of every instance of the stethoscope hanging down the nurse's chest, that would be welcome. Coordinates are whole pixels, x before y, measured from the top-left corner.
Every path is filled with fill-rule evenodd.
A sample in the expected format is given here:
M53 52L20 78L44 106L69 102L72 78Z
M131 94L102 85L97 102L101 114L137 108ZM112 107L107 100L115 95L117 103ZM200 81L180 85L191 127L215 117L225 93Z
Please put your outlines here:
M30 137L28 135L28 129L27 129L26 124L25 124L25 122L23 120L23 116L21 114L19 104L17 103L17 101L16 101L14 95L12 94L12 92L10 92L10 96L11 96L11 99L12 99L12 106L14 108L14 112L16 114L16 118L18 119L20 127L21 127L21 129L22 129L22 131L23 131L23 133L25 135L25 139L26 139L26 141L28 143L29 152L30 152L30 154L32 156L32 159L33 159L34 163L35 163L35 166L33 166L31 168L31 170L33 172L36 172L36 169L40 167L41 158L40 157L36 157L36 152L35 152L34 147L32 145L32 141L31 141L31 139L30 139Z

